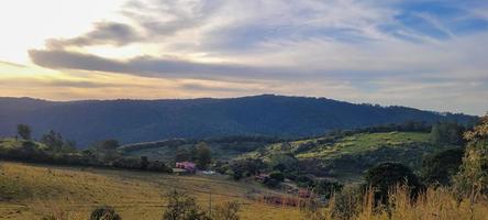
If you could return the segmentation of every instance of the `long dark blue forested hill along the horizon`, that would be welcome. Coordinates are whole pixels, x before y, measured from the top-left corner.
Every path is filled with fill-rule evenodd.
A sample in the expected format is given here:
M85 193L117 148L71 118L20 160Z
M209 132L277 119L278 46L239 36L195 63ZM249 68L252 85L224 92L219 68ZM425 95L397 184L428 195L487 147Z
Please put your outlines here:
M123 143L170 138L273 135L297 138L334 129L385 123L457 121L475 118L406 107L354 105L325 98L263 95L230 99L45 101L0 98L0 136L16 124L34 136L55 130L79 146L118 139Z

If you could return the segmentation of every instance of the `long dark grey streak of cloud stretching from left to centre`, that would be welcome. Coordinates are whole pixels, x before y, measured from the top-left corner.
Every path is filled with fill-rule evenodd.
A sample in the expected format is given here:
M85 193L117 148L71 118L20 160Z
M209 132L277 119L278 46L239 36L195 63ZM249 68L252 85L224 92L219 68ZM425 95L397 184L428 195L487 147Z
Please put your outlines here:
M80 69L123 73L145 77L181 78L270 78L291 75L285 69L252 67L237 64L204 64L175 58L140 56L126 61L110 59L91 54L68 51L29 51L38 66L53 69Z

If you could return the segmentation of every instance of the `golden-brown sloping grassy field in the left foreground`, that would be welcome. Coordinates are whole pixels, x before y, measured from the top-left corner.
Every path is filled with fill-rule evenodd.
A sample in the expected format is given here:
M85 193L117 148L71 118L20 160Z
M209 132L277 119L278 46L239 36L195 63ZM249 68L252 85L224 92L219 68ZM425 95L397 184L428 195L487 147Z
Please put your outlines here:
M98 206L113 206L123 219L160 219L165 195L173 189L196 196L202 207L239 201L242 219L300 219L295 208L264 205L252 196L260 186L222 176L173 176L157 173L27 165L0 165L0 219L40 219L55 213L87 219Z

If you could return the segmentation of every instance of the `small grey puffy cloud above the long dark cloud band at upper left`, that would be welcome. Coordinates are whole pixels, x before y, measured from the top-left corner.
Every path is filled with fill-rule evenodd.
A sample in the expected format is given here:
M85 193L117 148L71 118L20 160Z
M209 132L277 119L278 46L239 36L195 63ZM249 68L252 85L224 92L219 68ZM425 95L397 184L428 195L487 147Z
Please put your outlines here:
M95 23L92 31L74 38L51 38L46 42L49 48L63 48L66 46L91 46L111 44L123 46L141 40L138 33L130 25L115 22Z

